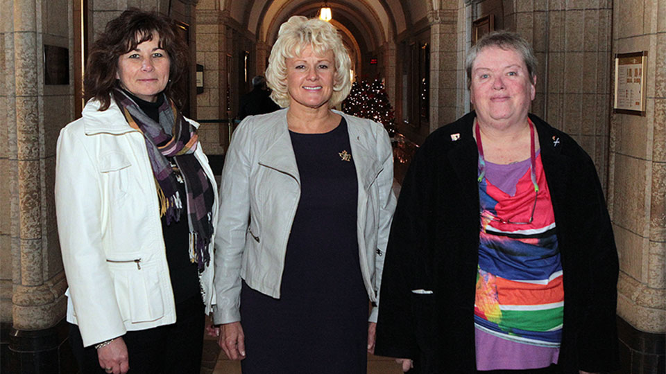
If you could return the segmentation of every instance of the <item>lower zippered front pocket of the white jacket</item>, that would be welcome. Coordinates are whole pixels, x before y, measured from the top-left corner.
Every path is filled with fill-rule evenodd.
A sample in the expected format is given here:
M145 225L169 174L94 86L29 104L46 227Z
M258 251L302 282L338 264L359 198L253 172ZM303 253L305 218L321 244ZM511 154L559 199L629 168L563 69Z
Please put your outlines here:
M137 269L135 260L110 263L123 321L146 322L164 317L164 297L156 268Z

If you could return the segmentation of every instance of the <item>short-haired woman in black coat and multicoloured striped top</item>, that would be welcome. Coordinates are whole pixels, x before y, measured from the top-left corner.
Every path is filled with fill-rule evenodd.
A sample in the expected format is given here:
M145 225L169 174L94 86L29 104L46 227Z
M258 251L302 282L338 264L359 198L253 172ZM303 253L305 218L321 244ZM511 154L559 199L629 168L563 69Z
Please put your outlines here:
M404 357L404 371L617 367L618 262L604 195L588 154L528 115L535 71L520 36L477 42L467 63L476 112L432 133L407 172L375 348Z

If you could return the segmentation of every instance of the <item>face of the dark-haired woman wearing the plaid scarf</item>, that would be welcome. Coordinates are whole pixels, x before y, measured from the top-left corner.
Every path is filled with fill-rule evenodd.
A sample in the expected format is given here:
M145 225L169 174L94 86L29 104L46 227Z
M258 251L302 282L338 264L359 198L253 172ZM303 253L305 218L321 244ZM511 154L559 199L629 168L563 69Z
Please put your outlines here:
M116 78L137 98L155 102L157 94L167 87L170 67L169 54L160 48L160 35L153 34L152 40L118 57Z

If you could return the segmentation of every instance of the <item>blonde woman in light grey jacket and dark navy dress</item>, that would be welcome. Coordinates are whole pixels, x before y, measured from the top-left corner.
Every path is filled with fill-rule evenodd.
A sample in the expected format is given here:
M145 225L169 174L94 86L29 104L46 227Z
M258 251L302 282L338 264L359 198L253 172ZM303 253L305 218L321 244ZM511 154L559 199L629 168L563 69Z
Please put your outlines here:
M214 322L244 374L366 373L393 154L382 125L331 109L349 69L334 26L291 17L266 71L288 108L244 119L225 157Z

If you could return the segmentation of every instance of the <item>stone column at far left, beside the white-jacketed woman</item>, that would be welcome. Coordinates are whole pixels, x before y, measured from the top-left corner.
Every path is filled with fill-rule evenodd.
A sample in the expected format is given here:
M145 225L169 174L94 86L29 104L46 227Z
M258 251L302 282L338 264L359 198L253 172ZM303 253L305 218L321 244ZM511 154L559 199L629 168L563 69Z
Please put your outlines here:
M10 194L0 214L10 222L10 239L2 241L0 250L3 262L11 264L12 284L9 291L8 269L3 266L1 296L10 295L11 303L3 301L1 315L3 330L10 326L2 368L38 373L40 367L50 366L58 372L59 347L65 339L58 326L65 317L67 285L53 204L55 143L60 127L71 120L73 102L71 84L44 86L42 53L45 44L71 50L72 8L66 0L5 1L2 13L2 109L7 129L2 171ZM3 224L3 234L6 227ZM11 305L11 310L4 305Z

